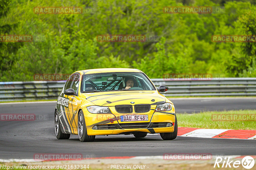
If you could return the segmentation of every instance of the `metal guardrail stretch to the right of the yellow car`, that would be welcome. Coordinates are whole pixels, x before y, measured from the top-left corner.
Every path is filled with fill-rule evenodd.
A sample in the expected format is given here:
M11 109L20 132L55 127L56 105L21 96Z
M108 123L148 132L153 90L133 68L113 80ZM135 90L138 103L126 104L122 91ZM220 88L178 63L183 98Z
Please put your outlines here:
M254 96L256 78L212 78L211 80L164 81L152 79L155 86L169 87L165 96Z

